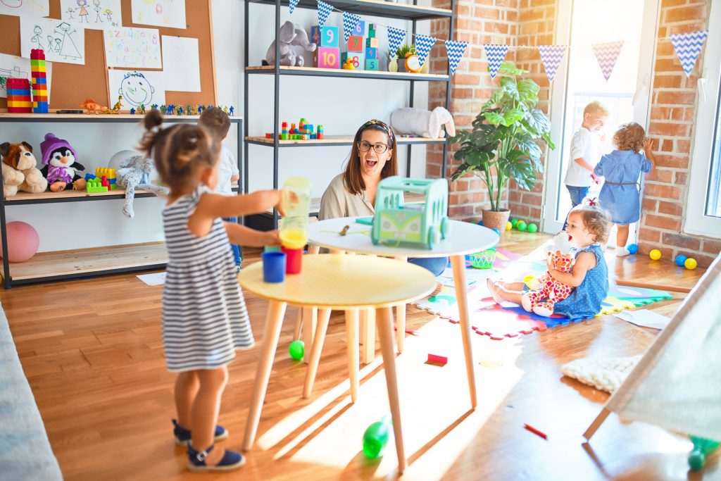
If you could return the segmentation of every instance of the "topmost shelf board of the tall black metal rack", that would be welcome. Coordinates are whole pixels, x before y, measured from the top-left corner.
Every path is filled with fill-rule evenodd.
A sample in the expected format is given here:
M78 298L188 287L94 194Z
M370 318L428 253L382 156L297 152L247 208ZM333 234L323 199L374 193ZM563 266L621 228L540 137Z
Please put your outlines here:
M275 5L274 0L249 0L253 4ZM453 10L437 9L433 6L418 6L414 4L397 4L383 0L327 0L328 4L336 9L355 14L372 15L373 17L398 18L405 20L430 20L453 16ZM288 6L289 2L280 2ZM316 0L300 0L296 8L317 9Z

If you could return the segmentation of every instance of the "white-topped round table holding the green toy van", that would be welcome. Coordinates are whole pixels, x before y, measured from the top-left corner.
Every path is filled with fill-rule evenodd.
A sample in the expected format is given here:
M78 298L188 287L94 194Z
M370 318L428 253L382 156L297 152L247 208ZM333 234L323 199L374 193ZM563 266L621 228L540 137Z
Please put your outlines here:
M448 236L438 242L433 249L422 249L417 247L390 247L383 244L373 244L371 241L371 226L355 222L358 217L340 217L338 219L326 219L314 222L308 226L308 239L311 244L325 247L334 252L356 252L359 254L380 255L394 257L397 260L407 261L408 257L451 257L451 266L454 273L454 284L456 286L456 299L459 306L461 336L463 348L466 355L466 374L468 374L468 387L471 393L471 406L477 406L476 400L476 378L471 349L471 322L468 312L468 299L466 296L466 262L464 255L472 254L494 247L499 240L498 234L491 229L471 224L469 222L449 221ZM340 231L348 226L345 235ZM307 256L306 256L307 257ZM369 257L364 257L368 259ZM398 268L399 266L397 266ZM428 271L426 271L428 272ZM318 316L318 325L322 324L325 316ZM367 325L372 328L372 323ZM397 309L396 319L398 351L403 351L405 339L405 304ZM371 356L366 356L364 361L370 361L375 355L375 336L370 332L362 337L366 339L364 351ZM317 340L313 340L315 348ZM322 342L322 341L321 341ZM371 345L372 344L372 345ZM311 358L312 359L312 358ZM309 372L313 371L312 365Z

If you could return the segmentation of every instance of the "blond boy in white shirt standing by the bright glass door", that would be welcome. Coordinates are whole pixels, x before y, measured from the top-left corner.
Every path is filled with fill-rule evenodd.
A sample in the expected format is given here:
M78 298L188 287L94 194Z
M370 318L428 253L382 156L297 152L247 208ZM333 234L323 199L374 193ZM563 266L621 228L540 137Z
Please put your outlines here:
M564 183L571 195L572 207L583 202L593 182L598 182L593 175L593 167L598 164L598 136L609 120L609 110L598 100L594 100L583 109L583 123L571 138L570 162ZM566 226L564 224L563 228Z

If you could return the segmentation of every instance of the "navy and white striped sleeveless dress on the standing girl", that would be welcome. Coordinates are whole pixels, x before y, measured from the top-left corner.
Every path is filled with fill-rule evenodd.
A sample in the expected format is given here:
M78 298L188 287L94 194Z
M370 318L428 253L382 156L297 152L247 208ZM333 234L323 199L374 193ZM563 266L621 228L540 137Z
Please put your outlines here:
M163 343L169 371L216 369L229 363L236 349L254 345L223 222L215 219L205 237L187 229L207 192L200 186L163 210L168 249Z

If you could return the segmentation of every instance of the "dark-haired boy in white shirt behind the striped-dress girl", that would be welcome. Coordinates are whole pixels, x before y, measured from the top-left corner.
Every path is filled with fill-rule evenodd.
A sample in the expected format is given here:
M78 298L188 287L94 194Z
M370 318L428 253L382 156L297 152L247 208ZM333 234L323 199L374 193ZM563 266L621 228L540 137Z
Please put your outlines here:
M200 113L198 119L198 125L202 126L210 132L216 138L224 139L228 136L230 130L230 118L228 114L218 107L212 107L204 109ZM233 153L225 146L221 147L221 159L218 166L218 185L216 185L216 193L224 195L233 195L232 184L240 179L240 172L238 171L238 164L235 162ZM229 217L223 219L226 222L237 222L238 218ZM240 247L231 244L233 255L235 257L235 264L238 270L240 270L240 264L242 262L242 252Z

